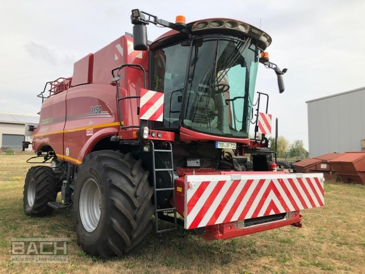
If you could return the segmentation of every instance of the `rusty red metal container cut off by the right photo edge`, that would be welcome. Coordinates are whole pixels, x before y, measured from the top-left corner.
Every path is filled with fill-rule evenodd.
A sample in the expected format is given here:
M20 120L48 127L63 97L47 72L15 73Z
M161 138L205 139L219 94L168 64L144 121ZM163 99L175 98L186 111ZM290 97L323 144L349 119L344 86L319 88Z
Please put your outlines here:
M341 179L365 184L365 152L345 152L330 163Z

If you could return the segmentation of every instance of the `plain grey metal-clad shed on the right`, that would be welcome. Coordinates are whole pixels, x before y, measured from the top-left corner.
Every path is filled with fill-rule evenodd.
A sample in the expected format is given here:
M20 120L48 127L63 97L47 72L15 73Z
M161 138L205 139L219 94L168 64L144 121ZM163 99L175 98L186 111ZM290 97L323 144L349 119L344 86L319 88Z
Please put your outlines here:
M365 139L365 87L306 103L311 156L361 151Z

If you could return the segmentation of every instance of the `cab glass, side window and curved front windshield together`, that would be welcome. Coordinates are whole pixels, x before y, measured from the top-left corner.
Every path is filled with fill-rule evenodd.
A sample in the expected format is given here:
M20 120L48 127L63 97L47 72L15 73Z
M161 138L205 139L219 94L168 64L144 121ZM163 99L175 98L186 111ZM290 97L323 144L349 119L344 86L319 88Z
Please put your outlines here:
M249 38L187 42L154 51L152 87L164 92L164 115L153 127L247 138L259 49Z

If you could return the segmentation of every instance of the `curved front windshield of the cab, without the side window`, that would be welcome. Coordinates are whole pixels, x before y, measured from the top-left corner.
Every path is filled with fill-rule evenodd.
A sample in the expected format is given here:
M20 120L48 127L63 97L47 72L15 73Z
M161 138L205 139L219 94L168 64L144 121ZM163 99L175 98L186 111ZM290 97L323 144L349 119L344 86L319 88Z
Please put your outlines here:
M210 135L247 138L258 66L250 40L193 42L183 126Z

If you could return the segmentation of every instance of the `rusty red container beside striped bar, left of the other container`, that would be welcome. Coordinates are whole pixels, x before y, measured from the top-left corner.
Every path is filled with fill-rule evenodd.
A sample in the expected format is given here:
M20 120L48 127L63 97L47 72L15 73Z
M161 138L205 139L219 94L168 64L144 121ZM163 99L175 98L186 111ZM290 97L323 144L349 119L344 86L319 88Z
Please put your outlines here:
M323 173L324 178L330 179L335 178L334 170L329 162L331 159L336 159L340 156L340 153L327 153L324 155L317 156L315 158L304 159L302 161L292 164L293 169L296 172L301 173Z

